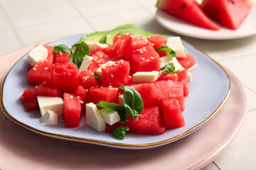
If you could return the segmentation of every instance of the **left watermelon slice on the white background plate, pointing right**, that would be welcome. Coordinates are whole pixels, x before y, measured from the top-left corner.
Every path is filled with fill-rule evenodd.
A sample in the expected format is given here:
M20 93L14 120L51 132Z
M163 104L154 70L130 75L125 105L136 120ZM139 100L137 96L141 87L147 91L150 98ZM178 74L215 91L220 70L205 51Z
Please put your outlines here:
M159 0L156 6L188 23L210 30L220 30L220 27L203 13L201 6L195 0Z

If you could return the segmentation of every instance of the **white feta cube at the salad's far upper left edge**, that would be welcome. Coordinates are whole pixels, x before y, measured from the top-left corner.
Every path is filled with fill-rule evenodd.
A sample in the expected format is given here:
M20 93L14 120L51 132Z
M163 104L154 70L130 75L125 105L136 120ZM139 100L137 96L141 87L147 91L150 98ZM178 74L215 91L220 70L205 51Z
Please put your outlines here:
M46 60L48 57L48 50L43 45L37 45L30 52L28 52L27 62L33 66L36 62Z

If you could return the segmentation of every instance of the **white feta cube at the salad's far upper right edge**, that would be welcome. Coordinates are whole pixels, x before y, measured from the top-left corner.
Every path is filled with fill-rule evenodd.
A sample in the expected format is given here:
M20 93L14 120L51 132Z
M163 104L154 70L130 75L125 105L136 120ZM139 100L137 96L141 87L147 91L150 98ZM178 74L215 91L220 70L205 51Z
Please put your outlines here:
M186 57L180 37L169 37L167 39L166 46L176 52L176 57Z

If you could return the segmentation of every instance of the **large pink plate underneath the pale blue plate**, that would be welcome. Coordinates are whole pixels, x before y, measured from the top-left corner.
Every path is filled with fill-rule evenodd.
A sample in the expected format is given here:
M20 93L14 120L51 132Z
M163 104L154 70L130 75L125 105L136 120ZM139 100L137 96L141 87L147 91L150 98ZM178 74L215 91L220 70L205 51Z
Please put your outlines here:
M1 84L26 49L29 47L0 57ZM232 88L220 111L193 134L153 149L114 149L58 140L13 123L1 111L0 169L200 169L229 144L247 112L242 86L228 69L227 72Z

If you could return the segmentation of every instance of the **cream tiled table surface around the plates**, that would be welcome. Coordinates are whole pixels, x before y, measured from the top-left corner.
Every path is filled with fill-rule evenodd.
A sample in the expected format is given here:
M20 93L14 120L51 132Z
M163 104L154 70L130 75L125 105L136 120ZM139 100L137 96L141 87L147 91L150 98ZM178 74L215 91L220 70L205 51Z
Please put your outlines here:
M0 0L0 55L38 40L110 30L124 23L176 35L156 22L155 4L156 0ZM203 170L256 169L256 35L239 40L181 38L228 67L247 96L248 113L240 132Z

